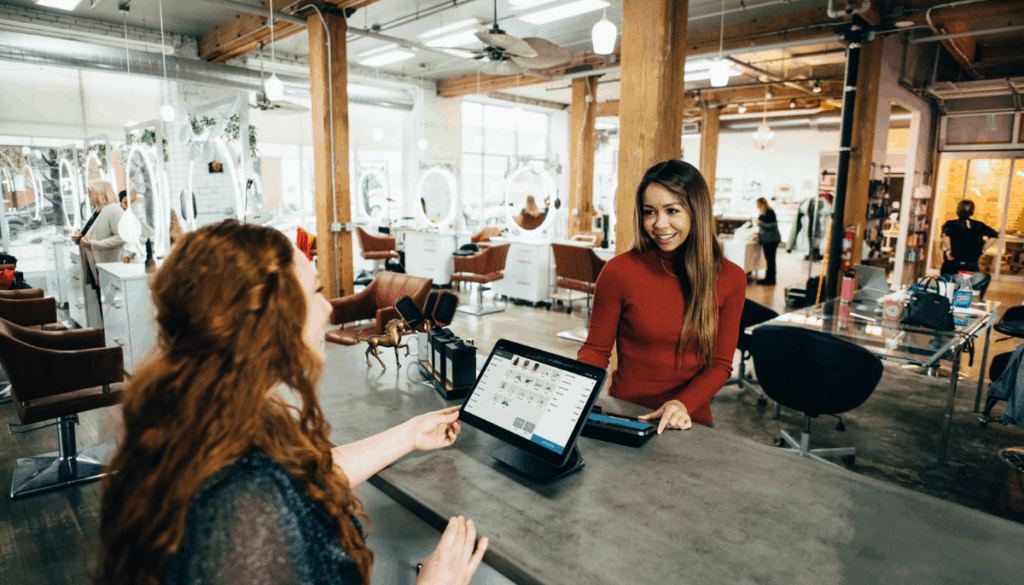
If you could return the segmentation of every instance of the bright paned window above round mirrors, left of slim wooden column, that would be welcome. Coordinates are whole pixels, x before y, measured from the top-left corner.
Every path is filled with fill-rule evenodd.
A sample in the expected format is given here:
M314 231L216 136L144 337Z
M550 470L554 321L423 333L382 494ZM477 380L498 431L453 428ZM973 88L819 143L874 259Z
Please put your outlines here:
M465 227L504 227L506 177L519 159L548 156L548 115L463 101L462 150Z

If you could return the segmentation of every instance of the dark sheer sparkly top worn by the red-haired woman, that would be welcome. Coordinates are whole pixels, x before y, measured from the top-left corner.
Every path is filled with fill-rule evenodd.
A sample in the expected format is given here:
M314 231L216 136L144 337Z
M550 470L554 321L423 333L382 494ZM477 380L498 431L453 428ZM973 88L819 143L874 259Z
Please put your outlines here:
M284 467L252 452L203 485L165 582L358 585L361 578L328 513Z

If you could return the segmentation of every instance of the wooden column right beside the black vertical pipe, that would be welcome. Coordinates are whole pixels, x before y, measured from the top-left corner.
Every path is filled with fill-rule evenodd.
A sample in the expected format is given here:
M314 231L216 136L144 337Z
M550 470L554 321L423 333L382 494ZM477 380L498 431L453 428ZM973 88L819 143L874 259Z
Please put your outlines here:
M851 265L860 263L867 222L867 198L871 182L871 157L874 151L874 125L879 111L879 83L882 75L883 38L860 45L857 71L857 97L853 107L853 136L850 147L850 176L847 180L843 221L853 225ZM885 161L878 161L881 165ZM834 225L833 229L843 229Z

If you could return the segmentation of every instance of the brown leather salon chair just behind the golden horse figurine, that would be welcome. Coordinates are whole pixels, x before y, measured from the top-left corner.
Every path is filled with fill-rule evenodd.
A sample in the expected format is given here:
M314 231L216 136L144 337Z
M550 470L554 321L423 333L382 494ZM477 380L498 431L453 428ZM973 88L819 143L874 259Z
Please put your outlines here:
M408 295L416 301L418 306L423 306L430 293L431 285L433 285L433 281L430 279L397 273L381 273L361 291L331 301L331 305L334 306L331 324L342 327L328 331L325 337L328 341L342 345L355 345L358 343L355 334L360 331L364 341L371 335L383 334L384 326L389 321L401 319L393 306L395 301ZM345 324L367 319L373 320L373 323L345 326Z

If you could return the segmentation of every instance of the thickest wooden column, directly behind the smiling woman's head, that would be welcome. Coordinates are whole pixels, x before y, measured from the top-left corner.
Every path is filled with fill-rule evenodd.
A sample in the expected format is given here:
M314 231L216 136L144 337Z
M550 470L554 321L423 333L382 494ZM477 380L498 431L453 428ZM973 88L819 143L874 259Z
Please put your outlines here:
M634 196L643 174L682 155L688 9L688 0L623 1L615 253L633 245Z

